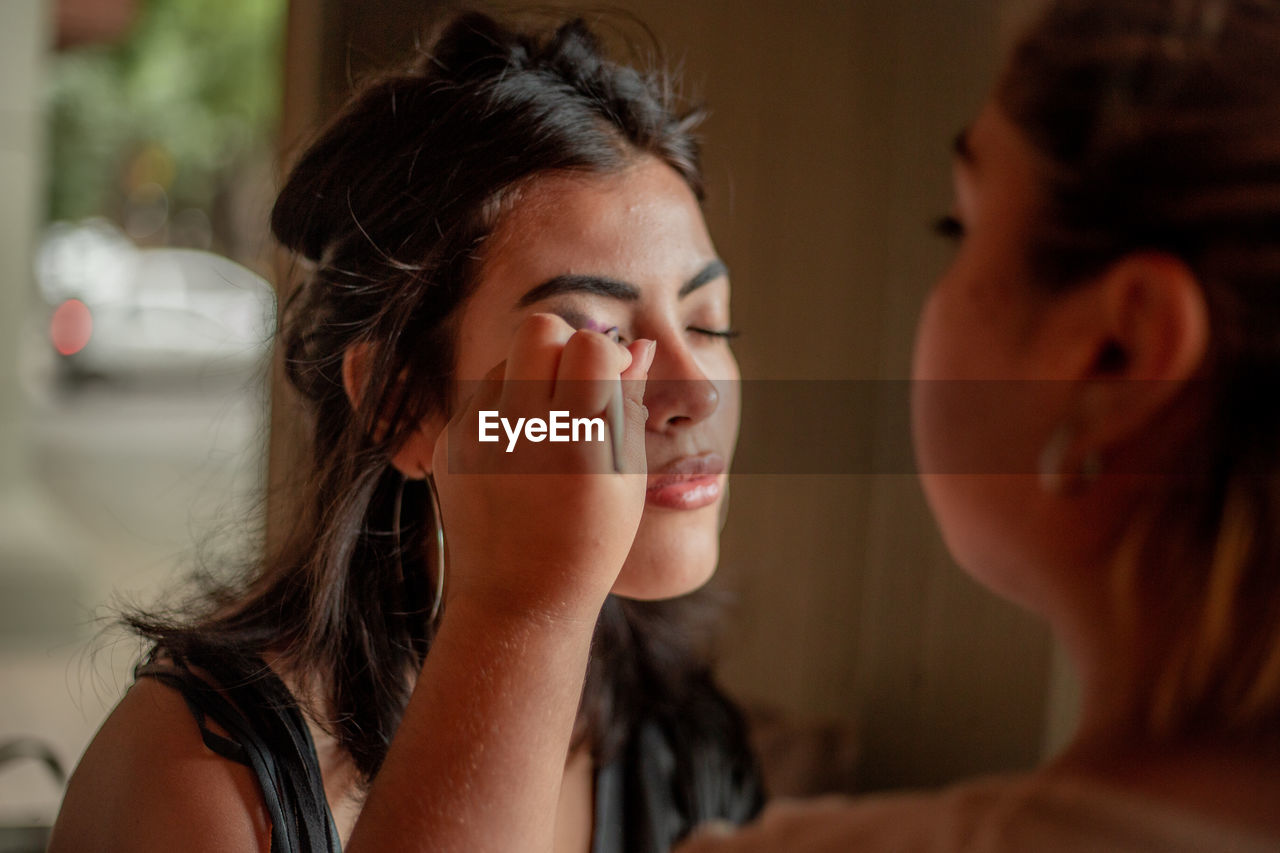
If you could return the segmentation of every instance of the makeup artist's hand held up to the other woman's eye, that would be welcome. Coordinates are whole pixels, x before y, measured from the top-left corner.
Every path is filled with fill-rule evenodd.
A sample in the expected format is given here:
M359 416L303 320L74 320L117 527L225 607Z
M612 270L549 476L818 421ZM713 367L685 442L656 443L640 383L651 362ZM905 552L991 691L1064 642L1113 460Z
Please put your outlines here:
M440 434L433 471L448 543L445 610L593 622L626 560L645 498L644 380L655 343L623 347L534 314L507 360L479 383ZM621 379L621 383L620 383ZM621 388L620 388L621 386ZM611 409L622 394L623 474L614 473ZM612 403L612 405L611 405ZM480 411L520 418L600 418L604 441L531 442L508 452L479 441Z

